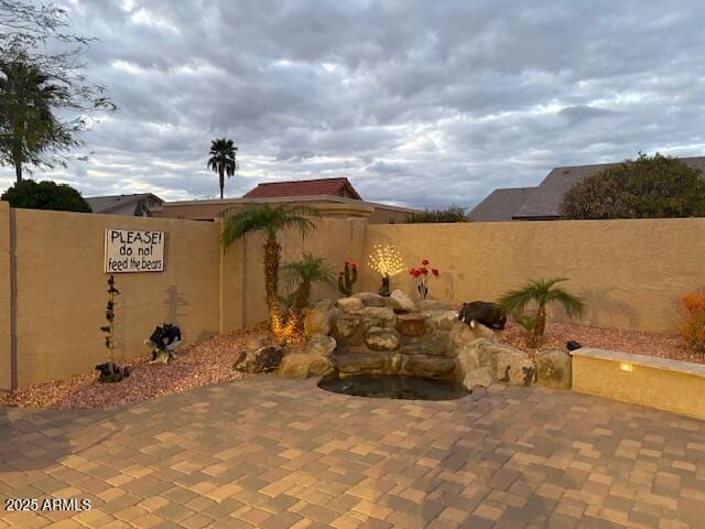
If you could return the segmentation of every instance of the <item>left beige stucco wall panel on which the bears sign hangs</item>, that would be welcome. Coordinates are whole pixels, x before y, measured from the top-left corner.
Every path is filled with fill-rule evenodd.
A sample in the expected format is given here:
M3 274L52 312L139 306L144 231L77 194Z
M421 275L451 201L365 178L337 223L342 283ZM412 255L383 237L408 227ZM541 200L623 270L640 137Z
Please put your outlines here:
M105 325L107 301L107 227L166 231L164 272L116 274L121 292L116 305L118 359L148 353L142 341L161 322L180 324L187 342L219 331L218 225L33 209L14 213L19 386L90 371L106 361L99 327Z

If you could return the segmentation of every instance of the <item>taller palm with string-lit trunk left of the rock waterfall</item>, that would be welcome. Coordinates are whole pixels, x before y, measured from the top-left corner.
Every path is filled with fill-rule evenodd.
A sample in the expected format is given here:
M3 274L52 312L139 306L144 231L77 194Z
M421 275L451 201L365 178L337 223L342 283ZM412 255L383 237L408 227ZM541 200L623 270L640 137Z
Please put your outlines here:
M257 206L242 212L225 212L221 241L225 248L230 247L245 235L260 231L265 236L264 241L264 289L267 292L267 306L270 313L270 325L279 320L279 263L281 260L281 246L276 240L276 234L285 228L294 228L302 237L315 228L314 223L307 217L319 217L321 214L305 206Z

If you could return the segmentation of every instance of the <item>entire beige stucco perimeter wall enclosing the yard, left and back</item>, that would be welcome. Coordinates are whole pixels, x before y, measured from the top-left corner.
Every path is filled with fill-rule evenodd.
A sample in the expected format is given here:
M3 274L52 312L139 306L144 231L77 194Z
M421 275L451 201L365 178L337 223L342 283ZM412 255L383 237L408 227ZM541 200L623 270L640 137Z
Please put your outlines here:
M147 353L142 341L163 321L180 324L185 339L196 342L267 319L257 235L221 250L219 222L10 210L0 203L0 389L11 377L11 215L19 385L105 361L99 327L107 227L167 233L165 272L117 274L119 358ZM311 251L337 271L352 259L360 264L357 292L379 288L367 262L375 244L395 245L405 268L431 259L442 274L431 295L453 302L494 300L529 278L571 278L565 287L587 301L585 321L603 326L673 332L679 298L705 285L705 219L370 225L321 218L316 225L303 241L282 234L282 260ZM405 272L392 279L392 288L413 292Z

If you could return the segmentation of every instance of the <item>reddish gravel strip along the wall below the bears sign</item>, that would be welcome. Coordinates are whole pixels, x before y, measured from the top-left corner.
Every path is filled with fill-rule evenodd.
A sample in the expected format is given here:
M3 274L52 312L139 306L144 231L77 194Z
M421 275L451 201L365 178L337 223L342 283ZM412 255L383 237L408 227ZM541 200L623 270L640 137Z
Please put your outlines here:
M120 382L98 382L98 373L76 375L25 386L0 397L0 404L29 408L108 408L180 393L210 384L236 380L242 374L232 364L248 337L267 333L265 326L215 336L197 345L184 345L178 358L167 365L149 364L151 355L133 358L127 365L130 376Z

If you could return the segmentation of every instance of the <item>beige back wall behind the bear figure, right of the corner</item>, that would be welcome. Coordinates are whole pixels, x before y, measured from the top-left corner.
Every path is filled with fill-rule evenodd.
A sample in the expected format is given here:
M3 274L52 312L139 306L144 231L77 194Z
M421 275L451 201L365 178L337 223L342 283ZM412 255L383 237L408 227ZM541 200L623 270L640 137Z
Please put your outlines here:
M429 258L441 269L431 295L455 302L495 300L529 278L570 278L587 302L585 322L674 332L679 298L705 285L705 219L564 220L375 225L373 244L394 244L406 267ZM365 283L379 279L368 267ZM412 291L406 273L392 288Z

